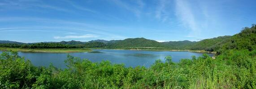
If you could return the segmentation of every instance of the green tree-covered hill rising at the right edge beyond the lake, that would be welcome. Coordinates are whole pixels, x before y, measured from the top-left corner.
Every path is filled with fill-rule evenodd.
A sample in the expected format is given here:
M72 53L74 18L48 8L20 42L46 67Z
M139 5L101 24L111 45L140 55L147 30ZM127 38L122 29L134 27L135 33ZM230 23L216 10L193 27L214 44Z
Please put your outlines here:
M196 42L191 50L222 51L228 49L252 51L256 49L256 26L243 28L241 32L233 36L219 36Z

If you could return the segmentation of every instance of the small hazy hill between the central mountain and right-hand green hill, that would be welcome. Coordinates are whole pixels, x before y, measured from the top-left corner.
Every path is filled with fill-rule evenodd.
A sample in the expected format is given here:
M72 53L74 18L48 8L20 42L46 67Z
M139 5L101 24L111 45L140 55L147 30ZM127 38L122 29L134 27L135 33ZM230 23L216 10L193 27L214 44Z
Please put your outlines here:
M173 48L173 49L190 49L191 46L193 46L196 41L169 41L169 42L162 42L165 47Z

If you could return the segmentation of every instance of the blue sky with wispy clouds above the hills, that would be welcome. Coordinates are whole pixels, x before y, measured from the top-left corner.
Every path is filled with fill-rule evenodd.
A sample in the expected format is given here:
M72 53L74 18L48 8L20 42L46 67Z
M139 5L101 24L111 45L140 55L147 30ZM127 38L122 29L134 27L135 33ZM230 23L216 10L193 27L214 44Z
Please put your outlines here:
M198 41L256 23L256 0L0 0L0 40Z

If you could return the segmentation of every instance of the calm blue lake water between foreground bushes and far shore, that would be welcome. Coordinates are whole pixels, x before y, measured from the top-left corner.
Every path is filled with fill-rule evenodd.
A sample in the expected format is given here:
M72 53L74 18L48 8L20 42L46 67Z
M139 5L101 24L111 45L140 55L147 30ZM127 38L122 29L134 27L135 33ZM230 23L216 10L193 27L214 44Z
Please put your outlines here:
M2 53L0 51L0 53ZM19 56L29 59L35 66L48 66L52 63L57 68L66 68L65 59L67 54L82 59L89 59L92 62L110 61L113 64L125 64L126 67L136 67L138 65L150 67L156 60L165 61L166 56L171 56L174 62L180 59L200 57L203 53L193 53L186 51L137 51L137 50L108 50L93 49L91 53L22 53ZM207 53L209 56L214 54Z

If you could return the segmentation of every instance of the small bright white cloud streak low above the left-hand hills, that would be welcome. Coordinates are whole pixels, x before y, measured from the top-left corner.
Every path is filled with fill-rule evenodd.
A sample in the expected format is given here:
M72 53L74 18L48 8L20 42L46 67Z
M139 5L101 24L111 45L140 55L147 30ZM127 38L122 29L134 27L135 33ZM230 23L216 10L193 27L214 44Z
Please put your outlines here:
M54 39L80 39L80 38L96 38L99 37L97 35L94 34L86 34L86 35L82 35L82 36L54 36Z

